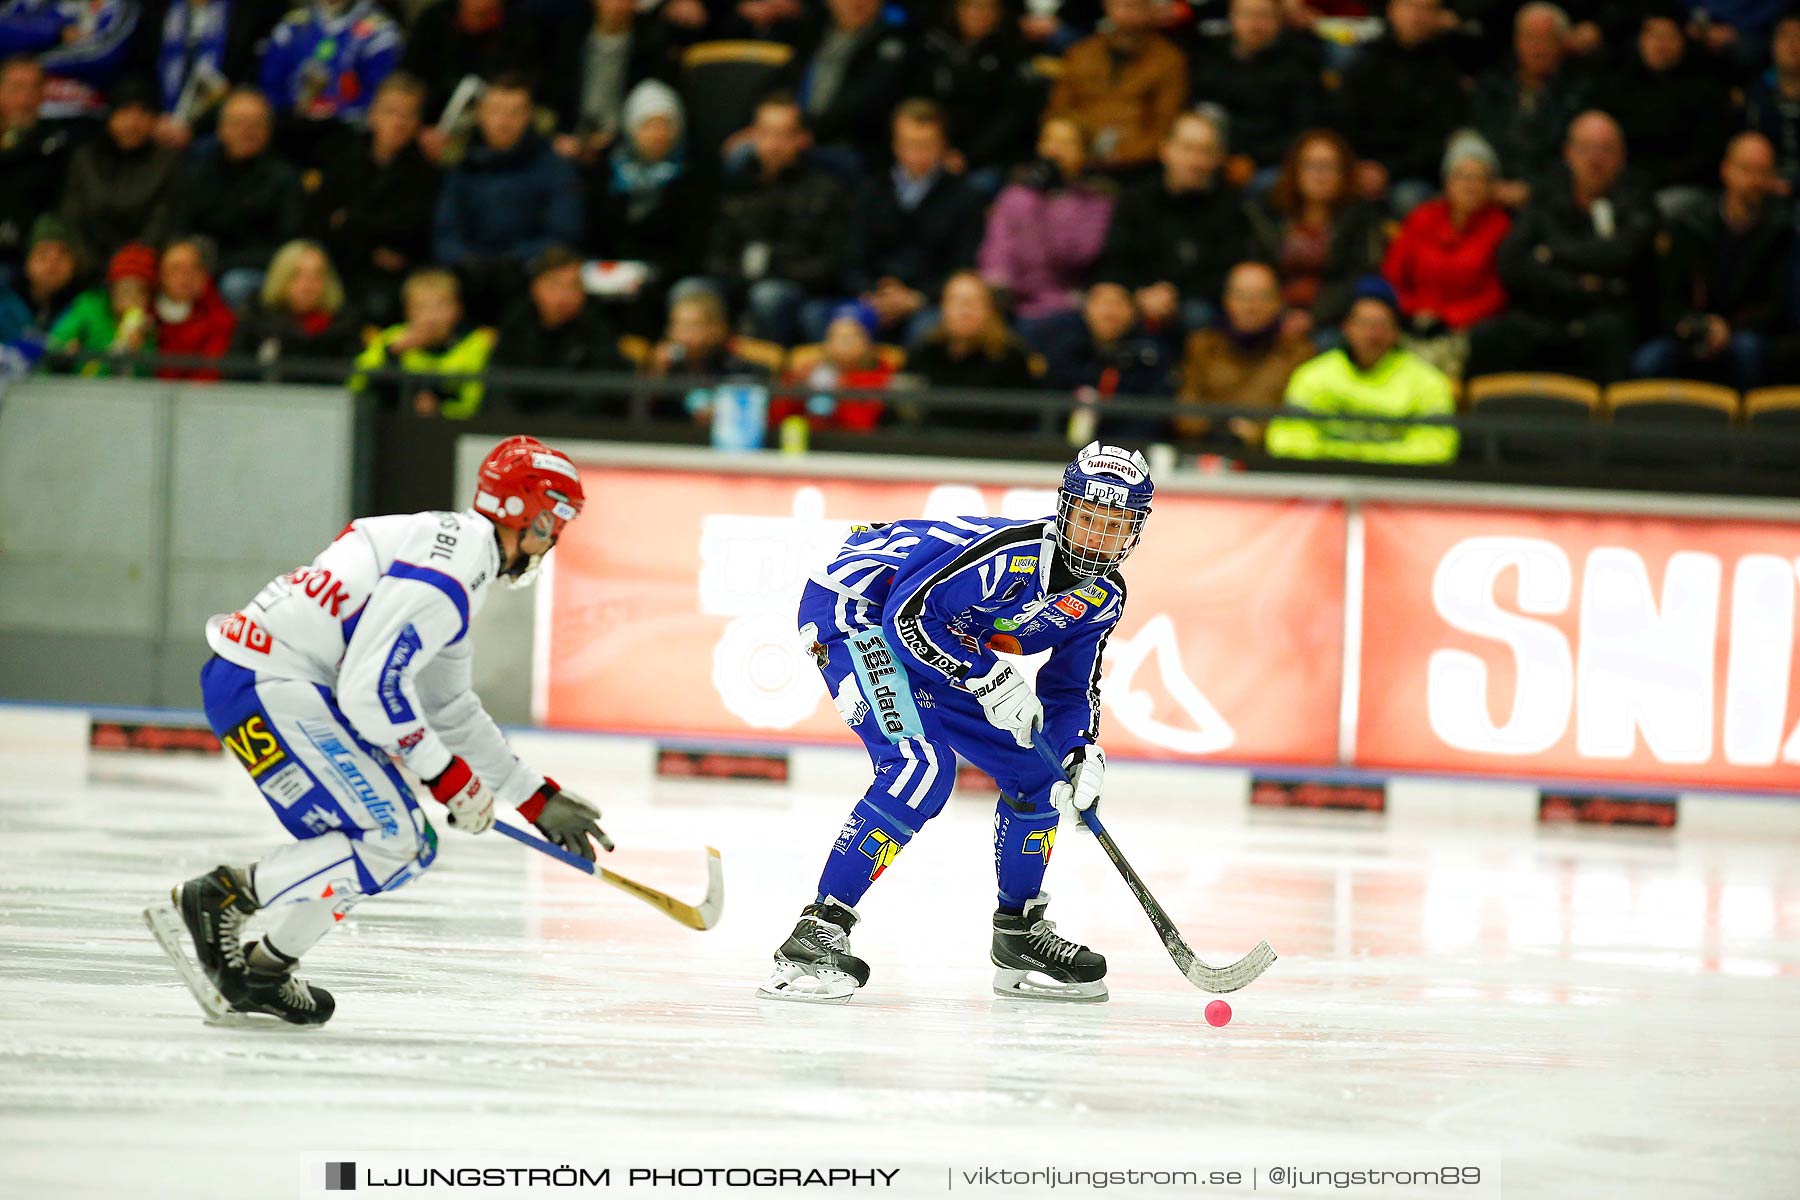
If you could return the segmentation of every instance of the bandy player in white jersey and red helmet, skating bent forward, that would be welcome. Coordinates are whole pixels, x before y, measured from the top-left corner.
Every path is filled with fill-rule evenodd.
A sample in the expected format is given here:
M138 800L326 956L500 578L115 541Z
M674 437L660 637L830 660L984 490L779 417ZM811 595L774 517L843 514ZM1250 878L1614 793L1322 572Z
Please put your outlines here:
M581 498L565 455L509 437L481 464L473 507L355 520L310 567L207 621L207 720L299 838L175 889L216 997L193 977L173 912L166 928L146 914L209 1013L223 1000L299 1025L331 1018L331 995L293 973L299 957L437 856L396 757L457 829L491 828L499 797L563 849L612 849L599 810L522 763L470 689L470 621L495 583L531 583ZM245 941L257 914L261 937Z

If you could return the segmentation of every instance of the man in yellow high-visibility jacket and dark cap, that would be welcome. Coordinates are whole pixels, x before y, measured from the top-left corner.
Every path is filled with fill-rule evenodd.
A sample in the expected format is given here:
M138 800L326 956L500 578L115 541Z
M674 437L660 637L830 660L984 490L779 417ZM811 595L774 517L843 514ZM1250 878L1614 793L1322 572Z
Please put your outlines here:
M1345 347L1301 363L1287 381L1289 410L1345 417L1451 417L1456 399L1442 371L1400 349L1393 293L1361 290L1345 317ZM1301 421L1276 417L1265 446L1283 459L1355 459L1431 466L1456 459L1447 425Z

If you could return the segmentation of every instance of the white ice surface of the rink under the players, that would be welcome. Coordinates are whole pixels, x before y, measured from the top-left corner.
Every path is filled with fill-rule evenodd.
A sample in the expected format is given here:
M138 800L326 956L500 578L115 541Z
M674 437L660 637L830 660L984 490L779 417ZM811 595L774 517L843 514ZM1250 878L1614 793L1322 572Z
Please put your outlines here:
M1202 957L1282 954L1211 1029L1067 829L1051 914L1109 955L1112 1000L994 999L992 804L959 795L862 905L868 991L806 1007L752 993L851 793L639 772L598 795L590 772L617 871L697 900L698 846L724 851L716 930L445 831L437 867L308 955L331 1025L236 1031L202 1025L139 910L274 844L257 793L223 761L34 766L0 772L9 1198L284 1196L301 1151L445 1146L904 1166L920 1195L950 1168L1476 1155L1508 1196L1800 1195L1795 842L1222 824L1109 797Z

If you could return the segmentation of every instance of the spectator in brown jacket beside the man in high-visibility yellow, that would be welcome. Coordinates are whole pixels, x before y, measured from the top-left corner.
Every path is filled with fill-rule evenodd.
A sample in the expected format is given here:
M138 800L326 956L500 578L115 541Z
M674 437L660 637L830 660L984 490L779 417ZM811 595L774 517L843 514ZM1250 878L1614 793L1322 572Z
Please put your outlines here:
M1314 354L1312 342L1282 324L1282 282L1265 263L1238 263L1226 277L1224 320L1217 329L1188 336L1181 363L1181 398L1175 408L1177 437L1208 437L1228 443L1201 405L1226 408L1278 408L1287 376ZM1231 417L1237 441L1262 444L1262 421Z

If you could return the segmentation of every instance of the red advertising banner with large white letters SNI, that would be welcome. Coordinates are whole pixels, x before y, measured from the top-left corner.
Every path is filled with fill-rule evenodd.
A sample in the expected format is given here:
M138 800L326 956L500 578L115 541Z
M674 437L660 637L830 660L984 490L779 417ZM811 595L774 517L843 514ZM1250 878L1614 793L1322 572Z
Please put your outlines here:
M1359 766L1800 790L1800 525L1363 522Z

